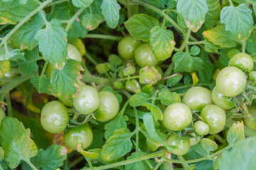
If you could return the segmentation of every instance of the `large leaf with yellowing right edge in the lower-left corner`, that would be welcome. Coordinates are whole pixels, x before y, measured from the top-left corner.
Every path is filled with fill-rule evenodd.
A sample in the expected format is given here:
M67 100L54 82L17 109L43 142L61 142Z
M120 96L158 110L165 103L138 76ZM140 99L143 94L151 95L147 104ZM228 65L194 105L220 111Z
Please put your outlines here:
M30 162L38 153L30 135L30 129L25 129L16 118L6 117L1 121L1 147L10 168L16 168L21 160Z

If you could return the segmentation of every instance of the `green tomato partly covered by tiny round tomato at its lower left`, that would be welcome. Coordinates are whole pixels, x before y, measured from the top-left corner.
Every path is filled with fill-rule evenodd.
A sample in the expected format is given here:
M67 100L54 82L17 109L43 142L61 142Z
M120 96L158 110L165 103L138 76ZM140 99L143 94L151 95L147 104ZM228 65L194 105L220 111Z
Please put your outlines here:
M208 105L201 111L201 117L209 126L210 134L217 134L225 127L226 115L222 108L216 105Z

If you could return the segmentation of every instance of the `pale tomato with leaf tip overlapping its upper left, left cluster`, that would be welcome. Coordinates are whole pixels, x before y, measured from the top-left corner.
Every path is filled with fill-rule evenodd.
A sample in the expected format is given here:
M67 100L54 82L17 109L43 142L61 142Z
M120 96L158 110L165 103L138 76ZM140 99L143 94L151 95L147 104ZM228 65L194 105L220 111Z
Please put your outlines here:
M82 114L93 113L100 106L100 96L92 86L82 85L73 99L75 109Z

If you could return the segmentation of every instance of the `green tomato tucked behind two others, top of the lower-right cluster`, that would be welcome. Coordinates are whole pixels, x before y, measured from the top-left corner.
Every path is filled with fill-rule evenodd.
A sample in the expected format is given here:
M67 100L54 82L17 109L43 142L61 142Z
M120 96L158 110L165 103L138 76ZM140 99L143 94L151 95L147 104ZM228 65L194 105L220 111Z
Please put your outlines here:
M205 106L213 103L211 92L201 86L188 89L183 96L182 103L185 103L191 111L201 111Z

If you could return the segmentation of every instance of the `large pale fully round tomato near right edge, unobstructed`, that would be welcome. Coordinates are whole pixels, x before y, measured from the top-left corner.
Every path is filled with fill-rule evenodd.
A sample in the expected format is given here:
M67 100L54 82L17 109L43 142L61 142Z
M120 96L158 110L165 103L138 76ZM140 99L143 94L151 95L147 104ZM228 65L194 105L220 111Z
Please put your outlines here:
M225 67L220 71L216 79L216 86L221 94L235 97L245 89L245 74L237 67Z

